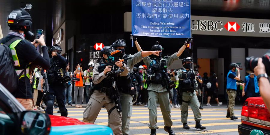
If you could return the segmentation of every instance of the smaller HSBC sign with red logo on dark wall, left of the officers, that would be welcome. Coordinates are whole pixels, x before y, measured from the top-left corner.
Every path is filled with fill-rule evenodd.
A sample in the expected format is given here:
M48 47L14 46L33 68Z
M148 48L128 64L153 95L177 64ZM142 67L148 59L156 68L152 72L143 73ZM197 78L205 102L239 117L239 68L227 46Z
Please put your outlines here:
M96 43L93 47L96 51L89 52L89 62L93 62L94 64L97 64L99 60L101 59L100 50L104 47L104 44Z

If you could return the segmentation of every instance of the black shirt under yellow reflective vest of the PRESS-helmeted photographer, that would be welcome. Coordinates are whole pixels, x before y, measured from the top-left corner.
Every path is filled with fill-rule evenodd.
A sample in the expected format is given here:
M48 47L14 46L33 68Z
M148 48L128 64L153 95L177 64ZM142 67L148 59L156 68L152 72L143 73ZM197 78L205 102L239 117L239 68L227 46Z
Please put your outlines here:
M8 41L14 37L16 37L16 36L9 35L6 37L6 41ZM33 44L31 44L27 40L20 41L17 44L17 46L15 47L15 50L16 50L16 53L17 53L17 56L19 59L20 67L22 69L25 68L26 65L28 65L30 62L34 61L40 55L40 53L35 48L35 46L33 46ZM26 83L25 83L25 81L26 81ZM27 86L27 90L26 90L25 84ZM26 79L25 79L25 77L22 77L21 79L19 79L18 90L15 91L15 93L13 93L13 95L16 98L23 98L23 99L33 98L32 88L31 88L30 80L28 77L26 77Z

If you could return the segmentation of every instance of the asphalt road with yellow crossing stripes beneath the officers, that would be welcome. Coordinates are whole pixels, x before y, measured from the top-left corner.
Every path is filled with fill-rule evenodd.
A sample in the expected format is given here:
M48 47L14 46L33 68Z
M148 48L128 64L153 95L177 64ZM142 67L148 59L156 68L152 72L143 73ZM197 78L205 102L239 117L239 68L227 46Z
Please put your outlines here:
M83 108L75 108L67 107L68 117L76 118L82 120L82 114L85 110L85 106ZM164 131L164 121L158 107L158 127L157 135L168 134ZM60 116L60 113L57 113L58 109L54 110L54 115ZM188 111L188 125L190 126L189 130L185 130L182 128L181 123L181 111L180 109L173 108L171 111L171 116L173 120L172 129L176 134L189 134L189 135L197 135L197 134L206 134L206 135L238 135L237 127L241 124L241 106L235 107L235 116L238 117L237 120L230 120L226 118L226 105L217 107L207 107L204 106L204 110L201 110L202 113L202 121L201 124L206 127L206 130L195 129L195 121L192 110L189 108ZM95 124L98 125L107 125L108 123L108 114L107 111L102 108L101 112L98 115L98 118ZM131 116L130 122L130 134L131 135L149 135L150 129L149 125L149 110L147 107L143 106L133 106L133 114Z

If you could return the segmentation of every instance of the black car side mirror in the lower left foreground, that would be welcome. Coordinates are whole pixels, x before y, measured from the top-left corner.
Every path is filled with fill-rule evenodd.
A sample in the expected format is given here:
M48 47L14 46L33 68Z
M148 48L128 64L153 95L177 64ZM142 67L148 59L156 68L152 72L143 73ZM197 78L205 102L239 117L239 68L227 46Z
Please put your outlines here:
M51 121L47 114L24 111L21 115L21 132L25 135L48 135L51 130Z

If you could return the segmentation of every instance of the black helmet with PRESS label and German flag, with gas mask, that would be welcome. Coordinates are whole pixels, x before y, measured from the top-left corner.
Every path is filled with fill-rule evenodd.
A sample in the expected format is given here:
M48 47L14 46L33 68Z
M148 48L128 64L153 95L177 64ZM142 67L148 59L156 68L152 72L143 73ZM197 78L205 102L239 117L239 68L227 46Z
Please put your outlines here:
M7 26L10 30L21 30L26 35L26 39L35 40L35 34L30 32L32 26L32 18L25 9L13 10L7 16Z

